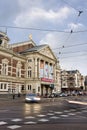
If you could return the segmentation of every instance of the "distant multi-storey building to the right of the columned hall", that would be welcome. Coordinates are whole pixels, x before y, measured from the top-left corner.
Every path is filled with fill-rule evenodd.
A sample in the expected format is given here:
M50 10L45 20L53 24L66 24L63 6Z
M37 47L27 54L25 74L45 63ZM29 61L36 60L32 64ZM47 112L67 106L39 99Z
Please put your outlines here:
M84 90L84 77L78 70L61 71L61 89L62 91Z

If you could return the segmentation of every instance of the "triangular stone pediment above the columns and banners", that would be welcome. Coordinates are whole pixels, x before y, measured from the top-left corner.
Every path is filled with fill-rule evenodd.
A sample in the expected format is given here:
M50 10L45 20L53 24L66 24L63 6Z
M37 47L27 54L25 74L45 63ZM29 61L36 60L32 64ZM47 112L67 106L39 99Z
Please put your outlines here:
M41 49L39 51L39 53L42 54L42 55L44 55L44 56L47 56L47 57L49 57L51 59L55 59L56 58L55 55L54 55L54 53L52 52L52 50L50 49L49 46L46 46L43 49Z

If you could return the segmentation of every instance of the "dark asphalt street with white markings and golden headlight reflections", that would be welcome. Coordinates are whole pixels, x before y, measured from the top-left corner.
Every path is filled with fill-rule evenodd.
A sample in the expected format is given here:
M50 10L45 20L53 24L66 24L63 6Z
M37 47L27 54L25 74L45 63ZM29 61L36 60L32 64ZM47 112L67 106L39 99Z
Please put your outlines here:
M1 130L86 130L87 108L71 108L63 100L25 103L0 100Z

